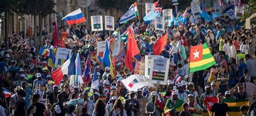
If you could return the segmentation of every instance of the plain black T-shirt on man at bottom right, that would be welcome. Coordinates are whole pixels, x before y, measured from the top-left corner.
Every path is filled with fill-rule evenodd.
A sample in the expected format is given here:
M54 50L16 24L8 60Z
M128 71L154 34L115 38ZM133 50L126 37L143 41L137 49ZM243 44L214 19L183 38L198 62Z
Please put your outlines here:
M226 115L226 112L228 112L230 110L230 108L228 107L228 105L226 103L215 103L212 108L211 108L211 112L214 112L215 116L222 116L222 115Z

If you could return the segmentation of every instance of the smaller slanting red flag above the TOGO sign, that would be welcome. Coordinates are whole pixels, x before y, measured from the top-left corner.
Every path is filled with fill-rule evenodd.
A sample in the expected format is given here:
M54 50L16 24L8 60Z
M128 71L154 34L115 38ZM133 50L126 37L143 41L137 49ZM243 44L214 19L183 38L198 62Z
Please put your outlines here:
M167 45L167 36L168 36L168 31L166 31L165 35L161 38L159 38L152 46L152 50L154 51L154 55L160 55L161 52L163 51L164 47Z

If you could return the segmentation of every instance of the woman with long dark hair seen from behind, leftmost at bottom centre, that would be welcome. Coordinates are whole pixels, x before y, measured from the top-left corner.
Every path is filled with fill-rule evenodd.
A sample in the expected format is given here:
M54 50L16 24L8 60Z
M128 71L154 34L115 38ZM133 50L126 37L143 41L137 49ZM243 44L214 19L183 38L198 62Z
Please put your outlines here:
M107 112L105 107L105 103L98 99L95 103L95 109L92 112L92 116L109 116L109 112Z

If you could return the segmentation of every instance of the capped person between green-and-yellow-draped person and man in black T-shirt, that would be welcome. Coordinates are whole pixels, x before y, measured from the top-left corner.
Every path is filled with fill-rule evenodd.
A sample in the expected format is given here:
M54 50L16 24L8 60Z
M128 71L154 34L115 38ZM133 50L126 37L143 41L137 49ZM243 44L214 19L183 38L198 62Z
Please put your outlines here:
M192 115L201 115L203 109L194 99L194 94L188 94L188 111L191 112Z

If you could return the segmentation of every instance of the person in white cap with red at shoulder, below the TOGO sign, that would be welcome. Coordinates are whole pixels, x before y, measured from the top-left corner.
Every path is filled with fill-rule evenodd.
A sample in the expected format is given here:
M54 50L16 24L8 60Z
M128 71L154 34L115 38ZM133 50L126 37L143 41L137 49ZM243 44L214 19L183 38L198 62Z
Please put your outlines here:
M151 100L146 105L146 113L149 115L161 115L164 112L164 104L159 100L159 95L156 93L156 91L153 91L150 93ZM156 98L158 97L158 98ZM156 103L155 103L155 99ZM156 106L156 111L154 112L154 106Z

